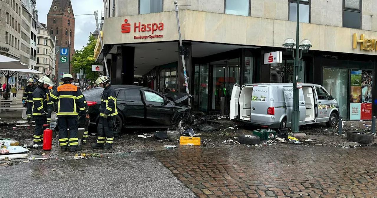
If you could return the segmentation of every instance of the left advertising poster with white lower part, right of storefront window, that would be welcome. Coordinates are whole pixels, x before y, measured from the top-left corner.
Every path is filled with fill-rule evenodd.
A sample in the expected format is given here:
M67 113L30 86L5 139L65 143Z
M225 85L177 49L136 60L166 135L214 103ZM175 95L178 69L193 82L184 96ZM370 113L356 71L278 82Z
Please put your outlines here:
M362 71L351 70L349 120L360 120L362 97Z

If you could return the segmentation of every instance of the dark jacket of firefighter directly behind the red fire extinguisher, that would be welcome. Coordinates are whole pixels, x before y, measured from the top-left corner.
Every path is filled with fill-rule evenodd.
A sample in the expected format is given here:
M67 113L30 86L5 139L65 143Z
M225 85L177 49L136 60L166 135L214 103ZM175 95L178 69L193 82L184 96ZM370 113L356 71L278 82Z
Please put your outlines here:
M44 112L47 112L47 95L46 89L43 85L38 85L33 92L33 116L42 116Z

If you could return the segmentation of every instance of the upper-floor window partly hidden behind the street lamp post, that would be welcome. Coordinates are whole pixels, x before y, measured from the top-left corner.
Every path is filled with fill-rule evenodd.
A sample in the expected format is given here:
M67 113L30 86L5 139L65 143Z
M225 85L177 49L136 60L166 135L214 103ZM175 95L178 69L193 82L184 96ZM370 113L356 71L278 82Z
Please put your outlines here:
M300 0L300 22L310 23L310 1ZM297 21L297 0L290 0L289 2L289 20Z

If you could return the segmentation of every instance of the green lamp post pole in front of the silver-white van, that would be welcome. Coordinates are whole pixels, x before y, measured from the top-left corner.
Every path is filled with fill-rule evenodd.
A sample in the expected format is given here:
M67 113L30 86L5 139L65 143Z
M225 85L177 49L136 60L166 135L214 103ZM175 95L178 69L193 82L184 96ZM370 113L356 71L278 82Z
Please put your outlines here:
M299 132L299 93L300 89L297 88L297 81L299 80L299 25L300 25L300 1L297 0L297 17L296 17L296 58L294 63L294 72L293 72L293 111L292 111L292 132Z

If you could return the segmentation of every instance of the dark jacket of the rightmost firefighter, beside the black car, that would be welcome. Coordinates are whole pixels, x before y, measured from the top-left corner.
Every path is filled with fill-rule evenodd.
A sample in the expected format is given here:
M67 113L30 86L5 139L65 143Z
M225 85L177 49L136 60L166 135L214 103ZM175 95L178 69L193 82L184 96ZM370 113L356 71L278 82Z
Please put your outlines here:
M105 87L101 97L100 116L103 117L104 114L108 116L118 115L118 110L116 109L115 89L111 84Z

